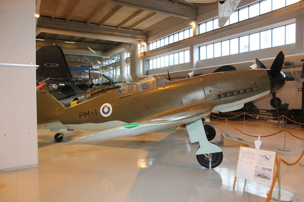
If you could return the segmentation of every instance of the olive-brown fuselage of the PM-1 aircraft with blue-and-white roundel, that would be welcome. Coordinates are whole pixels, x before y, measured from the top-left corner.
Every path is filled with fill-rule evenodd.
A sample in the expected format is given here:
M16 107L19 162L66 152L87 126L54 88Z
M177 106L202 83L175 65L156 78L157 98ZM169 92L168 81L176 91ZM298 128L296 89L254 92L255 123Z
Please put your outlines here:
M244 103L269 93L270 79L265 69L219 72L175 82L155 77L100 94L58 113L46 113L43 119L38 117L38 125L59 120L70 129L98 129L90 123L134 123L195 103L212 103L212 111L224 112L240 109Z

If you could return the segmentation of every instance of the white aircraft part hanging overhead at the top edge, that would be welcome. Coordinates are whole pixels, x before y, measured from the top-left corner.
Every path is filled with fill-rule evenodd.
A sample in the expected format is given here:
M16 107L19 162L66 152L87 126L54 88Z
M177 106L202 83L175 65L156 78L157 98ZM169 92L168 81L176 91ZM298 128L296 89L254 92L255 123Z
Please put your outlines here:
M186 2L191 3L216 3L219 2L219 27L223 27L227 20L230 18L233 11L237 8L237 5L241 2L241 0L185 0Z

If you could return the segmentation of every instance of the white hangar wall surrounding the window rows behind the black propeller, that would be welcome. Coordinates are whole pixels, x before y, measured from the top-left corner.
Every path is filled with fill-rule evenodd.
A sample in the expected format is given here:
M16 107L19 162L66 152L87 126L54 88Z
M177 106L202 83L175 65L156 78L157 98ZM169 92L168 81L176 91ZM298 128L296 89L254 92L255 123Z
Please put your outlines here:
M238 7L248 5L255 0L242 0ZM203 5L198 8L197 23L212 19L218 15L217 5ZM268 49L261 49L256 51L244 52L235 55L222 56L217 58L198 60L198 47L214 42L231 39L234 37L247 35L249 33L258 32L265 29L271 29L286 23L296 22L296 43L283 46L272 47ZM160 39L164 36L178 32L189 27L188 21L181 19L172 19L148 32L148 42ZM304 18L302 10L280 9L275 12L261 15L254 19L238 22L220 29L216 29L201 35L193 36L191 38L175 42L173 44L160 47L146 52L142 59L153 59L156 57L168 55L181 50L190 49L190 63L173 65L163 68L150 69L149 75L169 72L195 69L201 67L225 65L230 63L252 61L256 57L258 59L272 58L281 50L285 50L286 55L293 55L302 53L304 50ZM303 79L302 79L303 80ZM301 92L298 88L302 87L302 80L300 82L288 81L286 85L277 92L277 96L281 98L282 103L289 103L289 109L301 108ZM259 109L271 109L269 104L271 95L265 96L256 100L254 103Z

